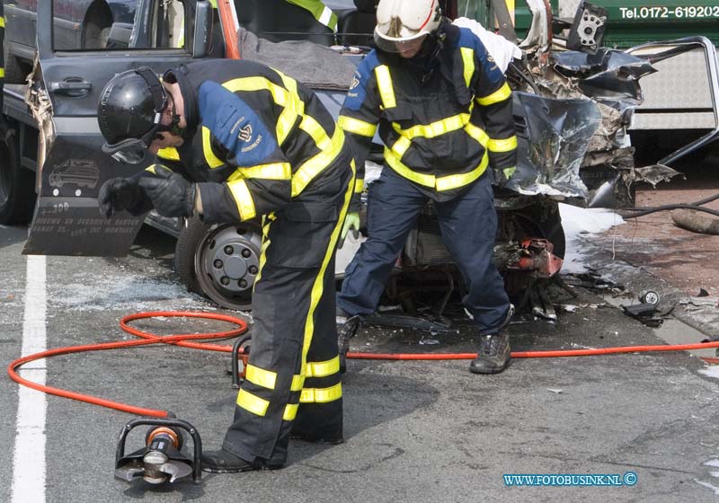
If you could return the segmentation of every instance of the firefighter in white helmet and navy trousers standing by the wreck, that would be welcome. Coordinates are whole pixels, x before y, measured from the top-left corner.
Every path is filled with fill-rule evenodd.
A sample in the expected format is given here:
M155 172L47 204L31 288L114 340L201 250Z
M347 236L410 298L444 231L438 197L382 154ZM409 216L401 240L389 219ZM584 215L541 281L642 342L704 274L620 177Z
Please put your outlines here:
M381 0L375 40L377 49L359 65L338 120L358 167L342 236L359 227L364 163L377 128L385 166L369 185L369 236L345 271L338 314L375 311L407 234L431 200L465 280L463 303L480 329L470 370L502 372L510 363L502 329L513 308L492 262L492 183L514 172L510 88L482 42L452 26L437 0Z

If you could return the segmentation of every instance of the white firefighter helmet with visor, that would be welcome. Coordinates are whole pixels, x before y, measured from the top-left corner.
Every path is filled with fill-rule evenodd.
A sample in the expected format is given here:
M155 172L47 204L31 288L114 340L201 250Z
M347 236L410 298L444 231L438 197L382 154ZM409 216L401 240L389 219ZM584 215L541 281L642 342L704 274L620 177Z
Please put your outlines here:
M377 49L403 53L419 47L439 28L439 0L379 0L375 42Z

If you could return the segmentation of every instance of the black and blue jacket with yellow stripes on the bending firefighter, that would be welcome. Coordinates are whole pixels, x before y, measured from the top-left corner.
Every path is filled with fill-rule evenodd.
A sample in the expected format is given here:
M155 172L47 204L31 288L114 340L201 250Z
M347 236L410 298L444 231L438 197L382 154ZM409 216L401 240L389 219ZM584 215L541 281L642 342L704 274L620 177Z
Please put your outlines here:
M188 140L157 155L200 182L206 222L247 220L342 190L350 148L304 85L244 60L191 63L164 79L180 85Z

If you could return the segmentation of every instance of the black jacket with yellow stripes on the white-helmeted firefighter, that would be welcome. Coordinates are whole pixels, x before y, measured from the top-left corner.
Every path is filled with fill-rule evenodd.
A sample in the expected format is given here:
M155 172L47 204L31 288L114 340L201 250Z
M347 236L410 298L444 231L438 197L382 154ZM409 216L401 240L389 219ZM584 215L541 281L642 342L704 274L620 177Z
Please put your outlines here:
M502 71L471 31L445 29L429 69L380 51L360 63L338 120L355 153L355 192L377 131L386 166L439 201L462 193L488 165L515 165L511 91Z

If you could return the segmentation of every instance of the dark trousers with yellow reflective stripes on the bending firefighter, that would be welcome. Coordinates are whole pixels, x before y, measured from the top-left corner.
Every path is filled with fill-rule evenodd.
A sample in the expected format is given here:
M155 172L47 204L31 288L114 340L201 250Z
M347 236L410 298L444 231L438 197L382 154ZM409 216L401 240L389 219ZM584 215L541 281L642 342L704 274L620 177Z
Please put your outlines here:
M285 463L293 426L342 438L334 250L353 186L348 170L333 197L263 218L247 375L223 443L245 461Z

